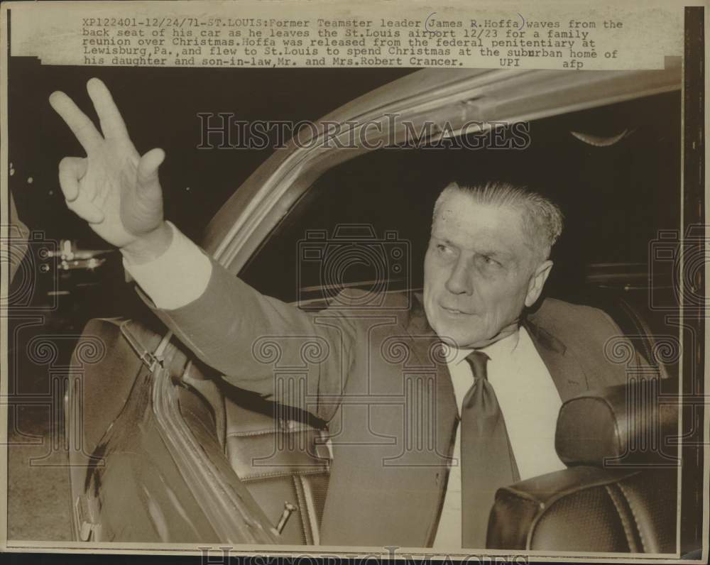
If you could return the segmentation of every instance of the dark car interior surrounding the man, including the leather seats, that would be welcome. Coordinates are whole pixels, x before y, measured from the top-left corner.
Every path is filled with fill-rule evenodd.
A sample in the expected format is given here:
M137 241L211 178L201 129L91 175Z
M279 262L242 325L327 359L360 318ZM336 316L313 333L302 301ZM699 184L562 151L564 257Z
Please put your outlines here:
M560 204L567 226L545 295L605 310L655 371L630 377L641 415L626 386L563 405L556 448L568 468L499 491L488 547L676 549L678 463L667 438L677 434L678 415L663 398L677 391L678 356L668 351L678 329L667 309L652 307L672 304L673 265L654 264L651 278L648 242L679 226L679 107L672 92L542 119L529 124L525 150L399 147L361 155L322 175L240 273L263 294L310 310L344 287L417 290L432 205L451 180L511 180ZM342 243L376 259L329 270L324 263ZM309 262L303 251L314 247L322 253ZM326 423L234 388L195 359L182 385L190 429L207 438L205 449L224 454L280 541L318 544L331 461ZM650 427L662 449L638 449Z

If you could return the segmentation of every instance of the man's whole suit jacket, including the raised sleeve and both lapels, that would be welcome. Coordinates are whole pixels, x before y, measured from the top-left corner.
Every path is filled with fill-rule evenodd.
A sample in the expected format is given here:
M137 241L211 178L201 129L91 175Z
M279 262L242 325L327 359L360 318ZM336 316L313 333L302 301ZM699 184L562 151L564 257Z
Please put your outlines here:
M363 297L302 312L213 263L202 297L156 313L229 383L328 422L322 544L425 547L454 440L451 378L418 297L375 295L352 307ZM625 382L626 365L605 353L621 330L601 310L547 299L523 323L563 401Z

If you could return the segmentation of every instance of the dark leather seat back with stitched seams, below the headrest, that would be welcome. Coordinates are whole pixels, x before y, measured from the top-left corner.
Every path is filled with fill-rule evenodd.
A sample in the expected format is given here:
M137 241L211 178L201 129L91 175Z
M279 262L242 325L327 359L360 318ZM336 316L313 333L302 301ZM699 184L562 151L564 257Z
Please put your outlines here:
M490 549L674 553L677 470L577 466L501 489Z

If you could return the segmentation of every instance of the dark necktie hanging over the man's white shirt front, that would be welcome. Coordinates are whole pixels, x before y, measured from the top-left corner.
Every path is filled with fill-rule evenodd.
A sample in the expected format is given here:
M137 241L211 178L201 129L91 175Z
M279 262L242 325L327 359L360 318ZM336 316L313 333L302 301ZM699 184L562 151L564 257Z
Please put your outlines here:
M463 547L484 549L488 515L496 490L520 481L503 412L488 383L488 356L466 357L474 384L461 405L461 540Z

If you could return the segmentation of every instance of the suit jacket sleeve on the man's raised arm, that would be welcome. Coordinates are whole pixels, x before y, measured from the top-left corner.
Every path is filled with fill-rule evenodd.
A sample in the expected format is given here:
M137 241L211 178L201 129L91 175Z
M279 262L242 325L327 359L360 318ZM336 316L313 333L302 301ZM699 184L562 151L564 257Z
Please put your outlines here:
M330 419L351 366L355 329L337 311L317 317L261 295L217 261L204 293L155 314L236 387Z

